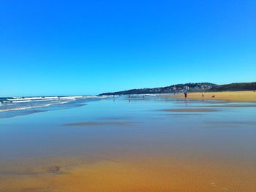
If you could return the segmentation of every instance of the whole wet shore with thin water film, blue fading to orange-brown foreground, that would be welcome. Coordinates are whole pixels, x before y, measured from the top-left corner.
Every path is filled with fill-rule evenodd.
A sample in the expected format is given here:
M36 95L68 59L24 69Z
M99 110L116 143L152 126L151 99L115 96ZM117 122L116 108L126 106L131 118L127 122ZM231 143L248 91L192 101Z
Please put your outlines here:
M159 96L77 104L0 119L0 191L58 191L67 180L61 191L76 182L76 191L256 191L253 104Z

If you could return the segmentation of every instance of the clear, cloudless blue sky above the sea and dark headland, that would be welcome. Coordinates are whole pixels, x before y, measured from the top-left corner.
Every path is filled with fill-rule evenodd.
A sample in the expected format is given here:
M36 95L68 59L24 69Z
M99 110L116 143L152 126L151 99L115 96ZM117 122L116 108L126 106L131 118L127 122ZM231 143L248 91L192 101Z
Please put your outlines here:
M0 96L256 81L256 1L0 2Z

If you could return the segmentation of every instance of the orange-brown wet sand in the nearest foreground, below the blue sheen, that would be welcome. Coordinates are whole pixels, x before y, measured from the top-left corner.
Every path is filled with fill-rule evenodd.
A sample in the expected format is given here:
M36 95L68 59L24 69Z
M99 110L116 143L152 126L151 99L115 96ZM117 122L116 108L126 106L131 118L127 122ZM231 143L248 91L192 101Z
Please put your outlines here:
M52 169L53 168L53 169ZM255 191L252 169L147 158L140 161L95 161L78 166L50 166L42 174L1 175L0 191L38 192L215 192Z

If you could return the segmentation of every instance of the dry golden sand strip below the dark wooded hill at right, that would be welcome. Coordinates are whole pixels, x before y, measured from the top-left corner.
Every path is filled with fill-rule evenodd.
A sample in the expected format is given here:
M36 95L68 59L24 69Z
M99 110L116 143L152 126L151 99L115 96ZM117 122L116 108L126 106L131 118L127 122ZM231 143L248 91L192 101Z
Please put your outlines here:
M183 99L184 93L179 93L176 95L165 95L165 96ZM202 93L188 93L187 99L221 99L225 101L256 102L256 92L254 91L206 92L204 93L204 98L202 97Z

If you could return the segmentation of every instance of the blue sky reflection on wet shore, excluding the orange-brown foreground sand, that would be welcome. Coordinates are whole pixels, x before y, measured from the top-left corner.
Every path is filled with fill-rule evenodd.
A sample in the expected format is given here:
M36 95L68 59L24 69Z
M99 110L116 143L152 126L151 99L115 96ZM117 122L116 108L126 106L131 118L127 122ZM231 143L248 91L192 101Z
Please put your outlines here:
M246 165L253 171L255 112L253 104L121 96L2 118L0 174L14 171L11 162L32 159L35 166L52 157L132 162L140 157L144 165L151 165L150 159L168 165L177 158L188 164ZM47 170L56 172L56 167Z

